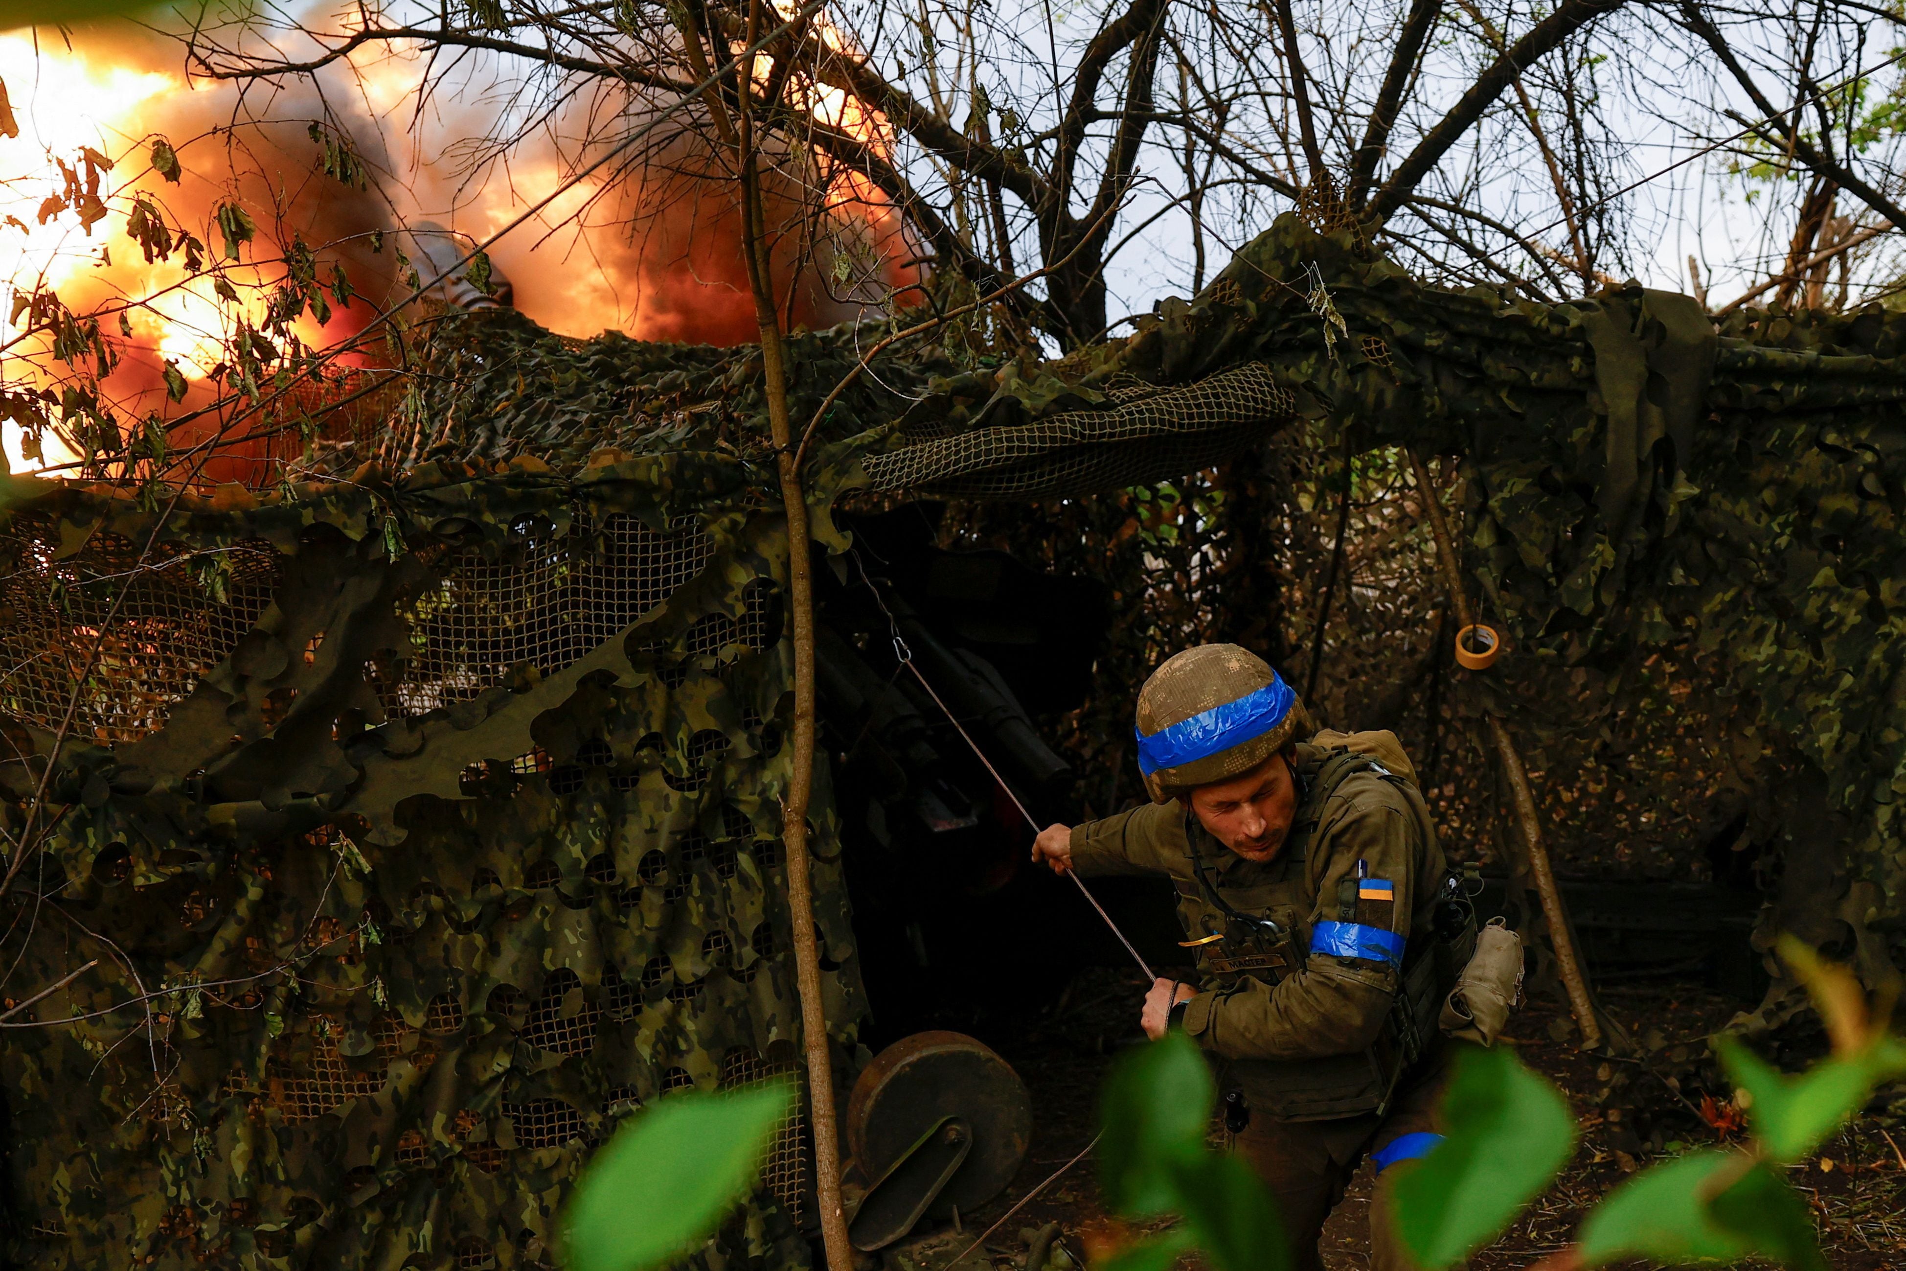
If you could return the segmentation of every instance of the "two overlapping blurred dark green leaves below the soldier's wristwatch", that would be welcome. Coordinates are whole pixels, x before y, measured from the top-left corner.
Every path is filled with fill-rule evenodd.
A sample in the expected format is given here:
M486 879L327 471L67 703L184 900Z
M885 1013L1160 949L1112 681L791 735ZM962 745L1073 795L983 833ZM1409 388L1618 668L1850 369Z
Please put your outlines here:
M1210 1067L1178 1031L1111 1071L1100 1140L1105 1202L1126 1218L1178 1214L1184 1221L1123 1248L1107 1267L1163 1271L1191 1246L1222 1271L1288 1265L1264 1183L1237 1157L1205 1145L1214 1098Z

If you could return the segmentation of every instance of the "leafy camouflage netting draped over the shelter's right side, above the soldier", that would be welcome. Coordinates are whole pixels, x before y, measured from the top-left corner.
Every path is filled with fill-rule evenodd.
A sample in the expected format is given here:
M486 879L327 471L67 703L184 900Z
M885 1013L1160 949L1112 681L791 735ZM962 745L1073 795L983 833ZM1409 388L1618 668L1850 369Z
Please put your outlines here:
M985 377L940 383L911 417L982 442L1058 415L1077 446L1092 436L1085 393L1105 398L1092 412L1104 436L1126 438L1121 385L1165 396L1256 368L1292 402L1267 427L1330 417L1357 450L1462 459L1483 612L1511 648L1572 667L1586 709L1620 696L1653 650L1713 667L1717 692L1748 707L1731 720L1736 777L1774 804L1786 838L1773 920L1855 957L1870 983L1887 978L1906 928L1893 814L1906 793L1906 314L1744 311L1715 332L1691 299L1641 288L1563 305L1450 293L1285 217L1132 339L1012 368L991 396ZM894 446L867 461L877 480L907 480L913 452L949 442L911 427ZM976 450L957 482L924 488L983 494L985 474L1024 465ZM1511 676L1460 675L1481 703L1521 713ZM1776 999L1794 1000L1784 985Z

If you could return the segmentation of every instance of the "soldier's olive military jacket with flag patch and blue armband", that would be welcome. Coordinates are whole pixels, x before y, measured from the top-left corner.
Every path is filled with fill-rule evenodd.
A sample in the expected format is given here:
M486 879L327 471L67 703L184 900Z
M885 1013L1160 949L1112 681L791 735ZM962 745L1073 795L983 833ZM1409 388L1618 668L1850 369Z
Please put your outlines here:
M1319 774L1344 747L1296 747L1298 810L1269 863L1233 854L1178 802L1071 831L1081 875L1168 875L1193 941L1227 930L1199 882L1193 852L1226 903L1290 932L1296 964L1285 968L1264 966L1264 957L1237 941L1197 945L1203 983L1186 1008L1186 1031L1227 1061L1229 1080L1254 1113L1279 1120L1353 1117L1384 1100L1372 1046L1405 951L1431 938L1443 852L1414 772L1393 736L1361 734L1359 741L1382 757L1378 766L1357 764L1328 791ZM1346 918L1348 903L1355 911Z

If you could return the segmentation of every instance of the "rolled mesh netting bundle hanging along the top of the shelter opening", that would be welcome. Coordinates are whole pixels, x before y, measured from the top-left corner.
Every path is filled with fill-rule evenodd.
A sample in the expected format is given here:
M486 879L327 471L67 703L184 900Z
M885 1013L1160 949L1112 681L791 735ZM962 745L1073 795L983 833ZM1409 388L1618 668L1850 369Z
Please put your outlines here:
M1296 410L1262 362L1184 389L1117 383L1109 396L1119 402L1111 410L921 438L863 465L877 490L966 499L1090 494L1208 467Z

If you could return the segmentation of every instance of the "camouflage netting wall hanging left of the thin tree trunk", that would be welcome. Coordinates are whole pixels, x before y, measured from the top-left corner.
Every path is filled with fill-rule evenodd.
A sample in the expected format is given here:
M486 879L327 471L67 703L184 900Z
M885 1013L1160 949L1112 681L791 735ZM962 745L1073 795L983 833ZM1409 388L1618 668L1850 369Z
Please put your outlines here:
M747 476L423 465L193 499L151 551L118 492L13 511L11 741L76 703L19 983L97 958L8 1019L21 1261L545 1265L619 1117L795 1069L787 549ZM812 819L850 1075L825 785ZM806 1263L804 1151L700 1265Z

